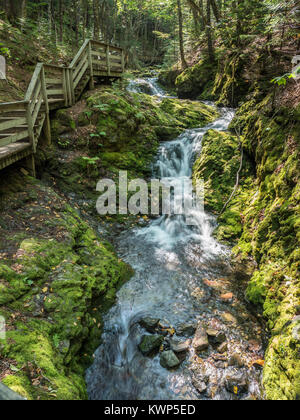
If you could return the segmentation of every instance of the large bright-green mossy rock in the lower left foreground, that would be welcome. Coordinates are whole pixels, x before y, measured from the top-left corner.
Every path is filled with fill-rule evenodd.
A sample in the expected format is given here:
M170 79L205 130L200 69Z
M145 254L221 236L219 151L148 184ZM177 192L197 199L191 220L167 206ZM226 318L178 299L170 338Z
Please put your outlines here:
M63 197L22 180L22 190L1 195L8 247L0 263L7 329L0 357L10 366L3 383L28 399L85 399L102 314L132 270Z

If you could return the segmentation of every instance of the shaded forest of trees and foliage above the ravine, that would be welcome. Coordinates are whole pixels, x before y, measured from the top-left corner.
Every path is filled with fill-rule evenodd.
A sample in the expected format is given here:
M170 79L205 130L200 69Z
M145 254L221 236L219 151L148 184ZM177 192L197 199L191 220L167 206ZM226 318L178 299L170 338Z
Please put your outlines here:
M211 61L220 51L249 47L296 52L299 18L298 0L0 0L0 48L22 55L6 39L13 28L28 40L25 49L43 40L68 55L94 38L124 47L132 68L185 68L197 51Z

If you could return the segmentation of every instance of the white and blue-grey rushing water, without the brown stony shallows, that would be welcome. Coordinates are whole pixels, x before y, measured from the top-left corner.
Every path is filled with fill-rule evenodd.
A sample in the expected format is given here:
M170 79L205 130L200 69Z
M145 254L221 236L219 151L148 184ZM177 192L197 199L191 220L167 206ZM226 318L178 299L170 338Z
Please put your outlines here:
M131 82L129 89L140 92L141 85L143 92L147 86L148 93L165 96L155 79ZM190 178L204 134L209 129L227 130L234 111L222 109L221 114L208 126L187 130L162 144L155 175L175 182ZM145 334L138 321L144 316L159 318L176 329L182 323L199 319L209 323L224 311L222 303L209 301L210 291L203 279L228 274L229 250L213 237L214 217L202 210L194 210L192 217L193 226L187 226L182 215L161 216L147 227L134 228L118 238L118 255L131 264L135 275L118 292L117 303L105 316L103 342L87 372L91 399L199 398L189 370L193 353L178 370L168 371L161 367L159 356L147 358L138 350ZM195 301L193 293L197 288L208 296L209 303ZM235 332L229 334L235 337ZM221 383L225 371L214 374ZM230 398L223 388L216 398L222 397Z

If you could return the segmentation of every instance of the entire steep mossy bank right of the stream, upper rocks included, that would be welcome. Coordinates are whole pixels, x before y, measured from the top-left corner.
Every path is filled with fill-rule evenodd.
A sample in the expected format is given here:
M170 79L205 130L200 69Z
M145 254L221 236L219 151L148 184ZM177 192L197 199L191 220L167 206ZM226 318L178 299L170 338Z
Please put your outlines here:
M257 63L257 73L248 78L239 57L227 61L228 71L208 77L202 61L180 75L176 85L185 97L193 96L195 87L200 98L231 105L243 101L231 126L233 134L210 131L205 136L193 176L205 179L206 206L219 215L216 235L235 244L234 258L252 267L247 298L258 311L263 309L271 332L263 379L266 397L294 400L300 398L299 89L291 81L276 93L270 66L263 57ZM263 68L269 72L260 76ZM252 81L246 81L251 76ZM236 182L241 146L239 187L222 212Z

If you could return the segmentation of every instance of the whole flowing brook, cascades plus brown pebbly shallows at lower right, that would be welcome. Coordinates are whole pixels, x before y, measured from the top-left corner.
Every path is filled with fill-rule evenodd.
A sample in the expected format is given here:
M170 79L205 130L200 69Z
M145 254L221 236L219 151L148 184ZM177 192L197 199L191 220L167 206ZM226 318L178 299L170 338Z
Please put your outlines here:
M130 88L152 92L158 100L163 96L155 79L132 82ZM226 130L233 115L222 109L209 126L164 143L155 174L190 177L203 135L211 128ZM118 238L118 254L135 276L106 315L103 342L87 372L90 399L262 398L264 331L243 299L245 278L231 268L230 250L214 239L215 218L202 211L192 217L196 226L187 226L183 216L163 216ZM165 336L166 350L184 342L179 367L167 370L158 352L146 357L139 350L142 337L151 336L149 325L146 330L140 325L145 327L147 317L160 320L156 334ZM198 354L192 344L197 325L209 338Z

